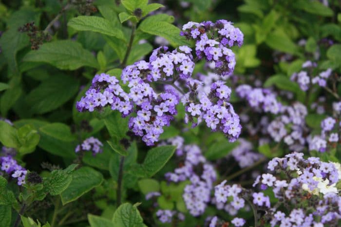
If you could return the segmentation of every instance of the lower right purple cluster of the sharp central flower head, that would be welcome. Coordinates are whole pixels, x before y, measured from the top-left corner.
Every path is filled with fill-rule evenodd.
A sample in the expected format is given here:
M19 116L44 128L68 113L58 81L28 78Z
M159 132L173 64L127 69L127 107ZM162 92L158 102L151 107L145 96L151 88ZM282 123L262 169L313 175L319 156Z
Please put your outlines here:
M211 85L208 95L201 93L199 94L199 100L197 100L195 98L197 93L196 82L193 84L194 86L188 83L191 91L181 100L187 112L185 122L192 122L192 127L195 127L202 120L205 120L206 125L212 131L221 130L229 141L237 140L242 126L233 106L228 103L231 89L225 85L225 82L217 81ZM193 118L197 119L196 123L194 123Z

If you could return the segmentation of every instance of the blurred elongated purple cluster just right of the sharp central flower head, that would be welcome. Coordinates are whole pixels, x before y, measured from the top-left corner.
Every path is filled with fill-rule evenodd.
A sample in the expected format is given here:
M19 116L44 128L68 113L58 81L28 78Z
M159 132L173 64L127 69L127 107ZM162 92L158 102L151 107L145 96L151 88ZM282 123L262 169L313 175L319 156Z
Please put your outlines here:
M248 104L258 112L278 114L282 110L282 104L276 100L276 94L269 89L240 85L236 92L239 97L246 99Z

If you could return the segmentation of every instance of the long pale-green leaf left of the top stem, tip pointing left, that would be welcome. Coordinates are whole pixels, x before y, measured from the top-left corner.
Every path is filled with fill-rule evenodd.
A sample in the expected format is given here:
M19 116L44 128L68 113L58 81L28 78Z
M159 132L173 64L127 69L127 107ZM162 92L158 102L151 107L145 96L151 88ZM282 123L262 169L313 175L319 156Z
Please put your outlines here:
M79 16L72 18L68 26L77 31L92 31L125 40L122 30L114 26L108 19L95 16Z

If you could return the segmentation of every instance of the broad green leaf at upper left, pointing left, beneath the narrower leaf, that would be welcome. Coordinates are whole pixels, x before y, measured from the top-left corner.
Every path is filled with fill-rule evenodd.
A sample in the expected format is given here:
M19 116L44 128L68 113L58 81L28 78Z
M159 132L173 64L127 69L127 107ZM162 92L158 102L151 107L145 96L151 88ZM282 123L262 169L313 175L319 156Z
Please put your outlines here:
M71 40L44 43L37 51L28 52L23 61L45 62L60 70L76 70L82 66L98 69L94 55Z

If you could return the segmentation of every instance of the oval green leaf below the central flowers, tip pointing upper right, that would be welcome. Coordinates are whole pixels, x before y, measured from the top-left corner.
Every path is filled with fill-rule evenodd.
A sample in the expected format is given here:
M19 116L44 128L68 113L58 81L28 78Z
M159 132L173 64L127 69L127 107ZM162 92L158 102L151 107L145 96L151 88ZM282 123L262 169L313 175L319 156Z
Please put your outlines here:
M149 150L141 166L146 176L152 177L161 170L174 154L175 148L175 146L167 145Z

